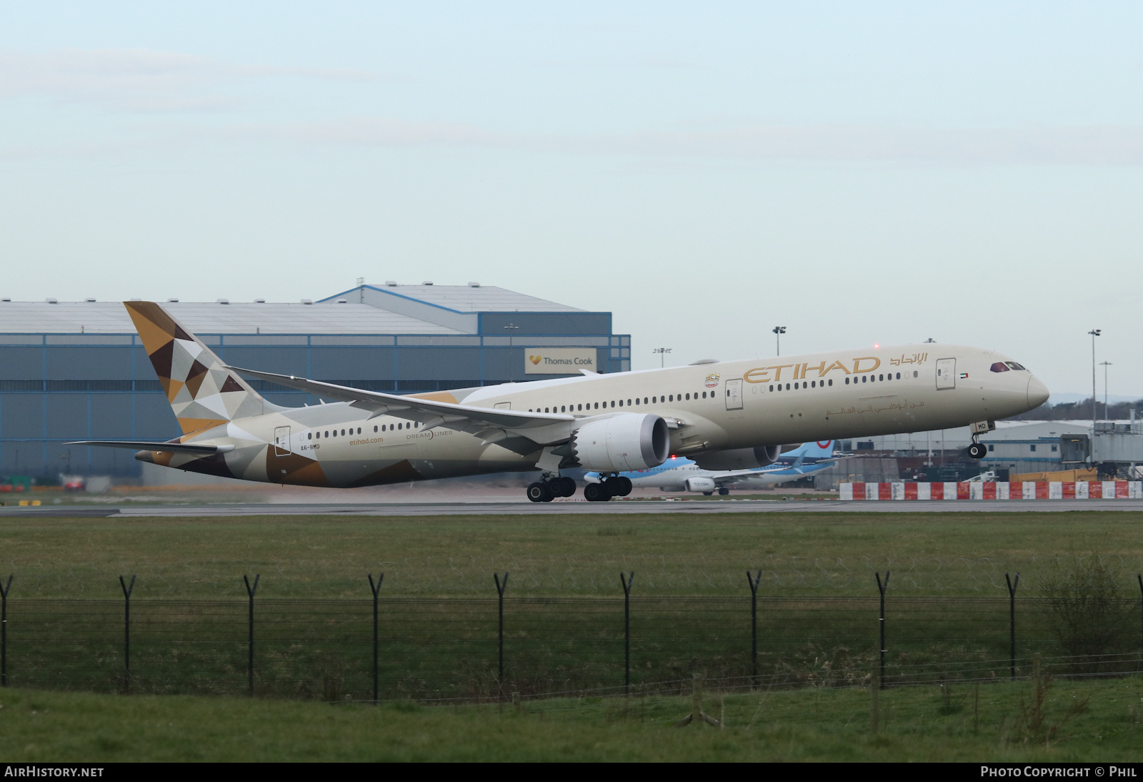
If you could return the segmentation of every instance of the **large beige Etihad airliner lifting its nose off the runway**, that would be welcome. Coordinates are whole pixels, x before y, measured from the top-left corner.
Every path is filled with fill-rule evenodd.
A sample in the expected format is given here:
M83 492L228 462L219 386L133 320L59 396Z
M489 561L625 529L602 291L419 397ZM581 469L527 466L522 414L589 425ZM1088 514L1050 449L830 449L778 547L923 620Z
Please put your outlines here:
M711 470L773 464L783 444L970 425L1044 404L1021 365L967 345L898 345L398 396L222 362L161 306L125 302L182 428L165 442L93 440L191 472L306 486L373 486L538 470L529 500L575 493L560 470L608 478L590 501L630 490L626 470L671 454ZM307 391L281 407L242 376Z

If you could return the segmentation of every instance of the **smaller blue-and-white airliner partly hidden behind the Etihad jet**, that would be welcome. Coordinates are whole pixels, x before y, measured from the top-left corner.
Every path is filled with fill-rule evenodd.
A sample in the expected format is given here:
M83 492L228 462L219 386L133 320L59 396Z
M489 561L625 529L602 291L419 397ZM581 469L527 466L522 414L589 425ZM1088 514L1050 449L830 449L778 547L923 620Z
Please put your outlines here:
M702 461L702 456L696 458L698 462ZM618 477L630 480L633 488L702 492L706 495L718 492L725 495L729 494L730 487L735 485L761 488L806 478L833 465L837 461L833 456L833 441L825 440L807 442L799 448L788 450L774 464L757 470L704 470L702 464L685 456L671 456L658 466L621 472ZM589 472L583 478L594 484L606 477L598 472Z

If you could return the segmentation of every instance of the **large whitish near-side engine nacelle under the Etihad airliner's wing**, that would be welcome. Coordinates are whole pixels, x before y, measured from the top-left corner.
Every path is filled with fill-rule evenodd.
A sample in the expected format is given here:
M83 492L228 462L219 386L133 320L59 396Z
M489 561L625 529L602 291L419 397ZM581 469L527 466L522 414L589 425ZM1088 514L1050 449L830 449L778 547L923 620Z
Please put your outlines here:
M572 453L585 470L647 470L671 455L671 432L657 415L621 413L589 421L575 430Z

